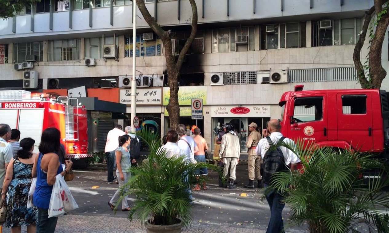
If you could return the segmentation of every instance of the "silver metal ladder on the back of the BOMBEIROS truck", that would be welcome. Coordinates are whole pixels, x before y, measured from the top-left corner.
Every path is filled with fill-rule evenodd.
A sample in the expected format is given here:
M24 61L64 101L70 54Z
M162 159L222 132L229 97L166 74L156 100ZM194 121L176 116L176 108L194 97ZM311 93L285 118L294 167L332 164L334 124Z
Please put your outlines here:
M78 141L79 140L79 117L78 117L78 99L77 98L68 98L66 95L61 95L57 98L60 101L60 98L66 98L67 102L65 105L65 140ZM76 101L76 105L70 105L73 100ZM75 114L74 110L77 110ZM74 119L76 116L76 120Z

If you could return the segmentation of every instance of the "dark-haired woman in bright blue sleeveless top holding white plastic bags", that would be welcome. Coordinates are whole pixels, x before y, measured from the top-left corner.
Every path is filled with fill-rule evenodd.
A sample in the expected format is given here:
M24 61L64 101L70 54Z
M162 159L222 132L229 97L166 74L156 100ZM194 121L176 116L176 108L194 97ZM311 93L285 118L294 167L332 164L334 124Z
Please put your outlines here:
M73 162L66 160L65 169L62 169L60 158L56 151L60 149L61 133L56 128L47 128L43 131L39 144L39 156L35 158L32 168L32 177L37 177L37 185L33 195L33 203L38 207L37 233L53 233L58 217L48 218L51 191L56 181L56 175L70 172Z

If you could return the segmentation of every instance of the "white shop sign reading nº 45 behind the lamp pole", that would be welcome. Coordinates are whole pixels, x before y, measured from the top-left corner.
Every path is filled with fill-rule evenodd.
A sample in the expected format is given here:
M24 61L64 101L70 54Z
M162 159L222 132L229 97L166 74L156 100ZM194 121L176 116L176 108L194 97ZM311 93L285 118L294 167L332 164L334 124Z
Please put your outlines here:
M131 89L120 90L120 103L131 105ZM137 88L137 105L162 105L162 88Z

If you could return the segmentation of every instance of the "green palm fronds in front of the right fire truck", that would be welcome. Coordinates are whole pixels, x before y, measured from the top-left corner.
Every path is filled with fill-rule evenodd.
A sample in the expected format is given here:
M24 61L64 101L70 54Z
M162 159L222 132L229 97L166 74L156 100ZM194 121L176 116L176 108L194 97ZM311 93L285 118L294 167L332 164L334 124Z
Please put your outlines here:
M389 208L389 195L381 191L389 185L383 162L359 151L317 148L303 141L296 144L284 146L299 155L303 173L275 173L270 186L284 193L284 202L291 208L290 224L307 223L315 233L358 232L361 224L371 231L389 232L389 216L380 211ZM373 169L382 178L361 178Z

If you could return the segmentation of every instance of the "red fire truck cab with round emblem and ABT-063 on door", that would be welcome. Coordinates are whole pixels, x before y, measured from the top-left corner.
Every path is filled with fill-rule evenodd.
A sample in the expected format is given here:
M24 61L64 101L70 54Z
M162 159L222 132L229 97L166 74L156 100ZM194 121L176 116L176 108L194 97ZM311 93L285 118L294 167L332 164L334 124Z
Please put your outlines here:
M389 162L389 105L378 89L312 90L303 85L284 93L282 134L319 147L375 152Z

